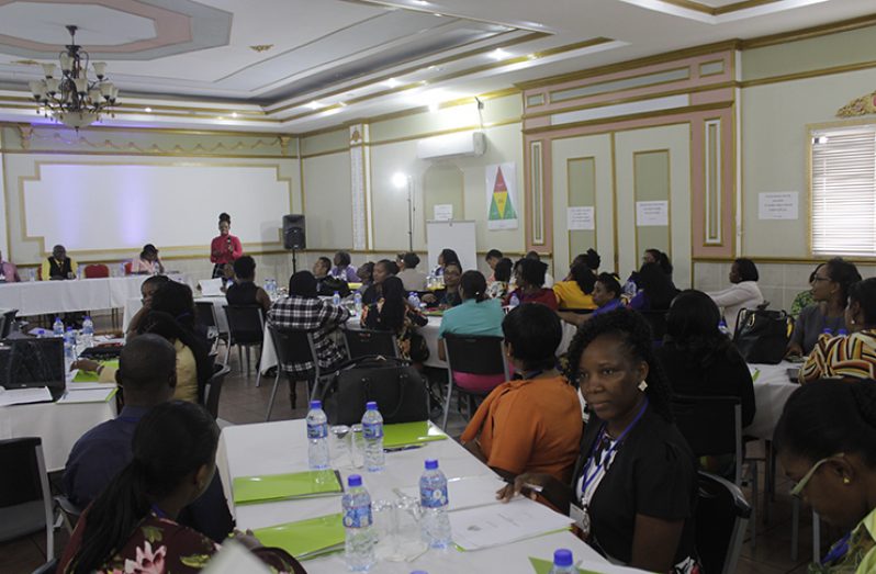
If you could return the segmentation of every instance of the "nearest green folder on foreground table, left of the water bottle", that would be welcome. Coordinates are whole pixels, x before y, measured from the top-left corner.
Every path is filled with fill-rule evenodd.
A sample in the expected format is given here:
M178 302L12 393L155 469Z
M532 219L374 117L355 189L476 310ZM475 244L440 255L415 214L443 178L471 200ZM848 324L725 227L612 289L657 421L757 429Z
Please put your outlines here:
M259 528L252 533L266 547L282 548L301 560L344 549L340 514Z

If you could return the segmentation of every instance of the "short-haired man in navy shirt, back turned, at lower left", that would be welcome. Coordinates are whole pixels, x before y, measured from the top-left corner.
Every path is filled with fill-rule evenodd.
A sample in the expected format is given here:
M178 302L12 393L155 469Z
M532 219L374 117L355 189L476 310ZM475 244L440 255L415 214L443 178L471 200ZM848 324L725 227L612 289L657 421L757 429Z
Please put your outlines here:
M141 418L173 397L177 352L158 335L141 335L122 349L116 382L125 406L114 420L101 423L76 441L64 471L64 492L85 509L132 459L131 441ZM173 448L168 444L168 448ZM221 542L234 528L218 473L198 500L182 509L180 524Z

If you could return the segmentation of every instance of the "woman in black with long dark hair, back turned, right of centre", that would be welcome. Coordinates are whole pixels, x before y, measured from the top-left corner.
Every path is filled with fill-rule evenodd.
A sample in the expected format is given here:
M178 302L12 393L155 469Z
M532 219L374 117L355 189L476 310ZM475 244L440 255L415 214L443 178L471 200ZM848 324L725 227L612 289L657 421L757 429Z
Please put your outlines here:
M674 394L738 396L742 426L754 419L754 385L745 360L720 330L721 313L701 291L675 297L666 315L666 337L655 350Z

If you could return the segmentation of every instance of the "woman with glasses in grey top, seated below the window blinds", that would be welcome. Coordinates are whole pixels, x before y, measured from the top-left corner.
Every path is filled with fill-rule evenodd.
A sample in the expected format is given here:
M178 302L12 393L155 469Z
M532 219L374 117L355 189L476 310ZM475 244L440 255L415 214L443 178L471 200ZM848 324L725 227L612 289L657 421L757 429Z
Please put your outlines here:
M843 335L849 330L845 324L845 305L849 302L849 288L861 281L857 268L840 257L819 267L812 274L812 299L810 305L800 312L794 326L786 356L809 354L822 335Z

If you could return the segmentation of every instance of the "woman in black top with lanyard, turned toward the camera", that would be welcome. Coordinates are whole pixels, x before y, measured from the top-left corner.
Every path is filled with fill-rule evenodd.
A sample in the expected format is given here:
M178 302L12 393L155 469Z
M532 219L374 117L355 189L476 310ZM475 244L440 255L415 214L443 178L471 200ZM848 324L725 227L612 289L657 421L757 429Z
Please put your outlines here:
M694 457L672 423L670 391L641 315L618 309L593 317L569 348L569 380L591 413L572 487L546 474L526 484L570 511L583 538L613 561L650 572L696 572Z

